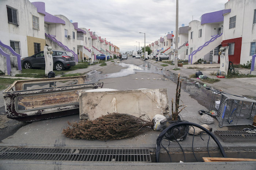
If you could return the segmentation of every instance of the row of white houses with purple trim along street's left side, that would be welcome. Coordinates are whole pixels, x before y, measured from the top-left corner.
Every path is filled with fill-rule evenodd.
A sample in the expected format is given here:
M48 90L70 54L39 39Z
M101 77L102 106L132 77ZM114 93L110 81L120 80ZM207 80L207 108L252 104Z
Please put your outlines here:
M4 63L0 68L7 64L6 69L14 71L14 56L34 55L43 51L45 45L72 52L76 62L91 58L92 53L119 55L117 46L95 32L79 28L78 23L71 23L63 15L46 11L44 2L0 0L0 63ZM10 61L3 59L5 55L10 55ZM21 70L20 66L17 68Z

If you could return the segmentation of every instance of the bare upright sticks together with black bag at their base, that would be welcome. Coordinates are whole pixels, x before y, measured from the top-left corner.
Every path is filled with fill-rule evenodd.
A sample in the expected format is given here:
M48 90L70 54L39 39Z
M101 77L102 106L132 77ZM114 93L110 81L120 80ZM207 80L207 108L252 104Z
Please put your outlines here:
M182 79L180 80L180 73L179 73L178 79L177 79L175 102L173 101L173 98L172 98L172 115L169 115L170 116L169 118L164 119L160 122L162 129L169 127L173 123L187 122L185 120L181 120L180 116L178 116L178 114L185 107L187 107L184 104L180 105L181 83L182 83ZM173 105L175 105L175 110L173 109ZM179 109L180 107L182 107L182 108ZM176 141L176 139L177 139L177 141L182 141L182 140L186 139L187 134L188 134L188 126L181 125L181 126L178 126L178 127L168 130L165 134L165 137L171 141Z

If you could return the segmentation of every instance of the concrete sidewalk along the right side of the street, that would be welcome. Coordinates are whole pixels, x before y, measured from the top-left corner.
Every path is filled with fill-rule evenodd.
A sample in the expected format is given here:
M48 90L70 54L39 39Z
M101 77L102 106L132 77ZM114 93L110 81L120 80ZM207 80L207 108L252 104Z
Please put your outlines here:
M202 71L204 75L209 78L219 79L219 82L215 82L213 84L205 83L200 79L191 78L197 82L205 83L207 86L213 87L217 90L223 90L229 94L238 95L238 96L247 96L249 98L256 99L256 77L255 78L235 78L235 79L227 79L227 78L217 78L216 76L211 75L212 72L217 73L219 70L219 64L196 64L196 65L184 65L183 67L178 67L180 70L173 70L174 65L169 65L166 67L161 66L164 64L162 62L155 62L155 60L147 60L159 68L165 68L165 70L169 70L175 74L180 73L181 76L185 76L189 78L189 75L195 74L197 71ZM194 69L188 69L188 67L196 67ZM250 70L245 68L237 68L236 70L240 71L242 74L249 74Z

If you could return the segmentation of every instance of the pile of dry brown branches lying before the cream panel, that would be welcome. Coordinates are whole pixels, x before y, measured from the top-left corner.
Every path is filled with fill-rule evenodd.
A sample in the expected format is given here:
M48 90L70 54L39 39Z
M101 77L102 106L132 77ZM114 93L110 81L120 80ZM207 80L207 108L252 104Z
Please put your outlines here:
M128 114L112 113L95 120L80 120L70 123L63 134L72 139L87 139L100 141L126 139L135 137L151 130L153 122L143 120Z

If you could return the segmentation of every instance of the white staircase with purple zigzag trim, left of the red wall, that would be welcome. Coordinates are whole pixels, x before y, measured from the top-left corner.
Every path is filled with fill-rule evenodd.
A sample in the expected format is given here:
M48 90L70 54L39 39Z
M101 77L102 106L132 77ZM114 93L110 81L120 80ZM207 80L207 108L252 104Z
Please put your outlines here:
M188 56L188 63L193 64L200 58L206 55L208 52L219 46L222 42L222 33L220 35L213 36L209 41L197 48Z

